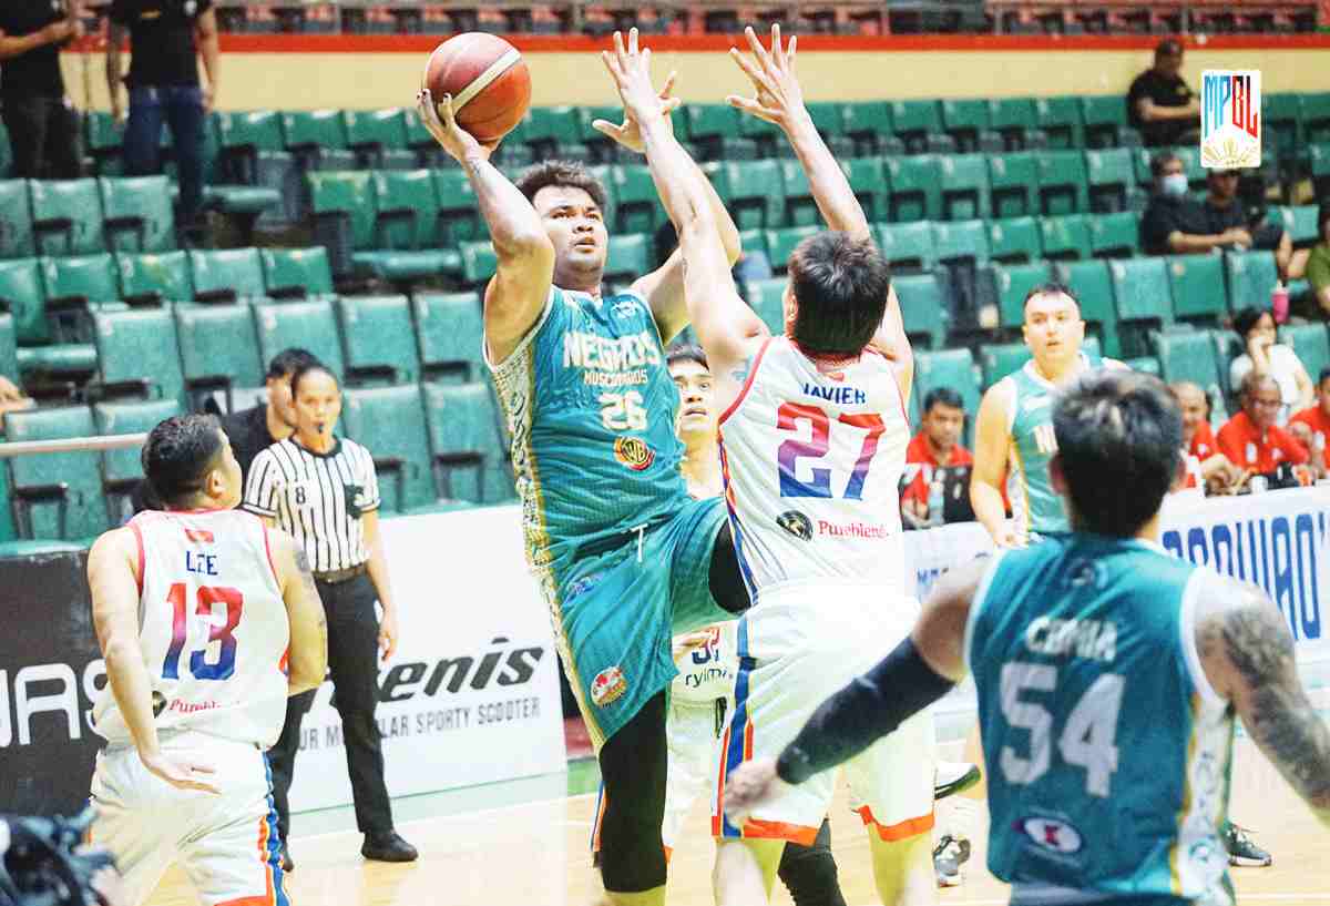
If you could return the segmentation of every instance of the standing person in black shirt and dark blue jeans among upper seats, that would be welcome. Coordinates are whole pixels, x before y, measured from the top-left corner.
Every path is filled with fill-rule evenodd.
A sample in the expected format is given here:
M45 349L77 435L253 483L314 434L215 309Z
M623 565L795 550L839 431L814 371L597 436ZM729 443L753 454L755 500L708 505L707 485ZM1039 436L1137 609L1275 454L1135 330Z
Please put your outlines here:
M110 110L122 118L120 48L129 32L129 125L125 169L130 176L161 170L162 122L170 126L180 174L181 221L198 226L203 208L203 116L217 102L217 15L213 0L112 0L106 44ZM196 53L207 88L198 82Z

